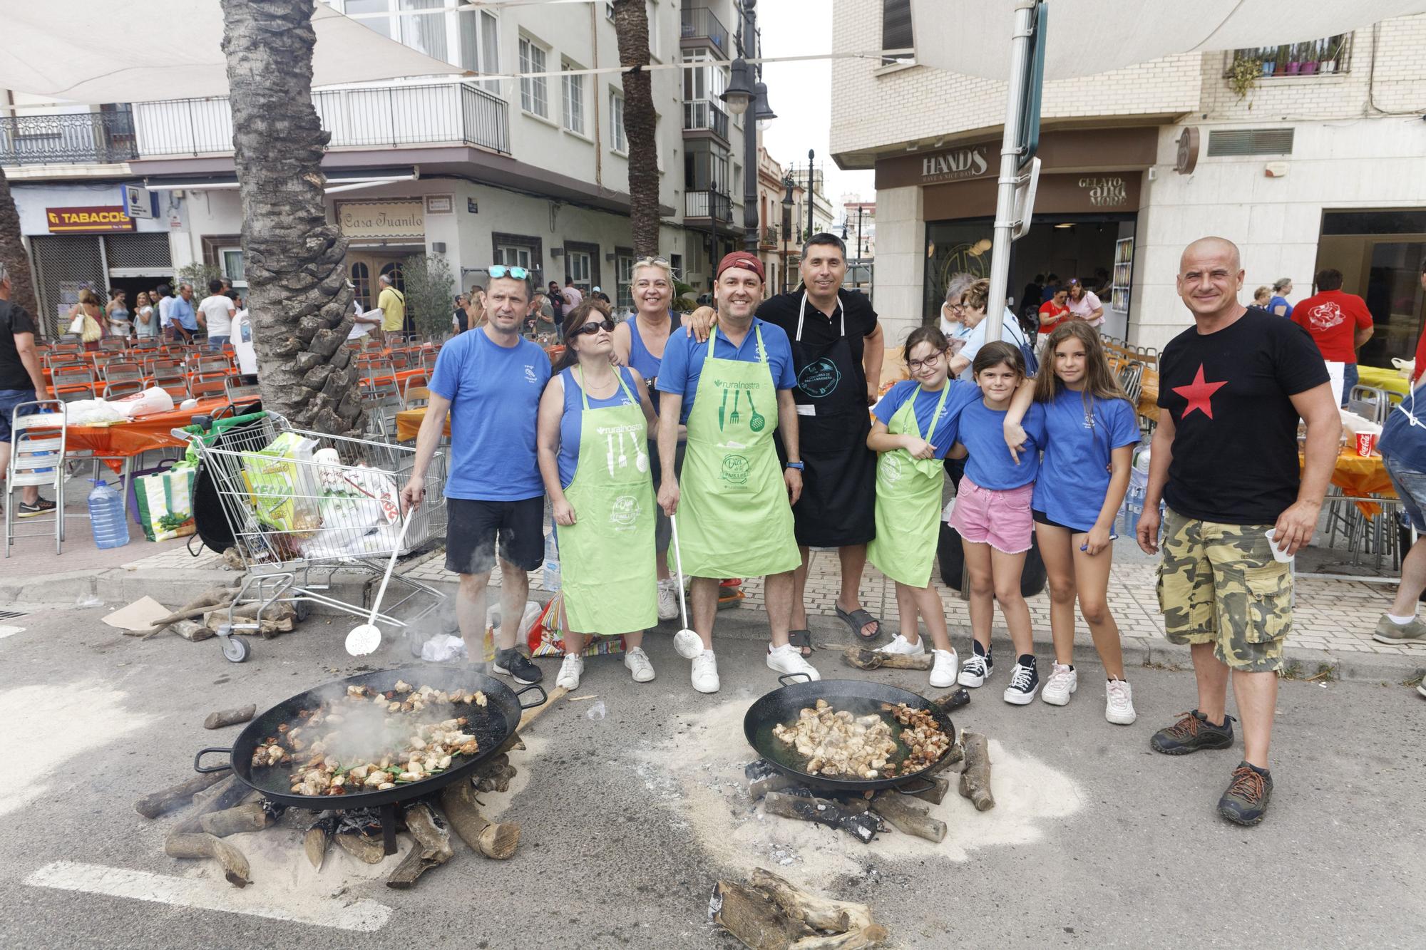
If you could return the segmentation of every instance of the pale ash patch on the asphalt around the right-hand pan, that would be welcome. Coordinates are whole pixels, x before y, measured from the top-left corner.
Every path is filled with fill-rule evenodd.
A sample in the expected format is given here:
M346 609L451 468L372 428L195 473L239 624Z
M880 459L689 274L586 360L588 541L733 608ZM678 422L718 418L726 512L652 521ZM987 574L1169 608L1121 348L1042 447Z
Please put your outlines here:
M730 699L704 712L677 715L667 737L637 750L637 773L650 799L677 824L693 829L710 856L733 867L773 867L793 883L816 887L829 874L860 873L863 864L887 860L944 859L965 862L975 850L1028 844L1041 836L1040 822L1079 810L1079 789L1070 776L1031 756L990 742L995 807L977 812L955 789L930 814L947 823L941 843L887 830L870 844L846 832L763 814L747 793L743 766L757 753L743 737L743 715L756 699ZM955 767L945 773L955 779Z

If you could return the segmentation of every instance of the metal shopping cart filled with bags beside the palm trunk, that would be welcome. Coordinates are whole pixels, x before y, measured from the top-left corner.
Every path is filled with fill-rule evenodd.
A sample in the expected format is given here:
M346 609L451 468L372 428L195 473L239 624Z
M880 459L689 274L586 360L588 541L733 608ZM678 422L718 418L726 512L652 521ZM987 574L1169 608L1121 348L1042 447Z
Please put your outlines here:
M245 569L227 622L218 628L222 655L234 663L245 660L250 648L232 633L260 630L274 603L291 603L298 619L312 603L365 618L362 605L332 595L332 575L348 569L381 576L395 545L408 553L445 536L442 452L431 461L425 501L411 514L402 542L401 489L416 455L411 446L294 429L275 412L217 419L173 434L188 442L217 488L232 548ZM406 630L409 645L415 636L409 625L436 609L445 595L401 575L391 583L405 596L384 605L376 619ZM421 595L425 599L415 612L394 616Z

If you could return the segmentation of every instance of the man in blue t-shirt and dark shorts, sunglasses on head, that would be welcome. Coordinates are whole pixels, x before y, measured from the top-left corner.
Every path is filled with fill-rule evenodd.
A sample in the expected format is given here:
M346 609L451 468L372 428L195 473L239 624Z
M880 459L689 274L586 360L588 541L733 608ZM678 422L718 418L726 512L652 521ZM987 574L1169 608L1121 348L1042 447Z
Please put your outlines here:
M401 492L406 505L425 496L425 475L451 414L451 462L445 495L446 569L461 575L456 620L471 658L482 650L485 601L499 541L501 636L493 670L518 683L543 675L515 646L529 593L528 572L545 543L545 486L535 458L535 415L549 381L549 358L520 337L532 295L523 267L489 268L485 315L478 331L441 349L431 375L431 402L416 434L416 461Z

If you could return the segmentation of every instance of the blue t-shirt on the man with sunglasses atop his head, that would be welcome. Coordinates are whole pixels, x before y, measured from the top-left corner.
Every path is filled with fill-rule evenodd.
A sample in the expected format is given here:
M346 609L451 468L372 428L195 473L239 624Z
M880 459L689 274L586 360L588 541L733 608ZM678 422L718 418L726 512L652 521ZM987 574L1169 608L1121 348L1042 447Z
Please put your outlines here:
M485 330L441 348L431 391L451 399L448 498L523 501L545 494L535 455L535 417L549 357L520 338L501 347Z

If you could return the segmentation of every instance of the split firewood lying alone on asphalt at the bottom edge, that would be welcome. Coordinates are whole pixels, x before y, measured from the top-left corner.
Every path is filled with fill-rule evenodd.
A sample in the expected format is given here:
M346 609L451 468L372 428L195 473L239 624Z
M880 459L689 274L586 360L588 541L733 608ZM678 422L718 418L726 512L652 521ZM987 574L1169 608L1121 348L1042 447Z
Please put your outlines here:
M747 884L717 882L709 919L753 950L858 950L888 936L866 904L810 894L761 867Z

